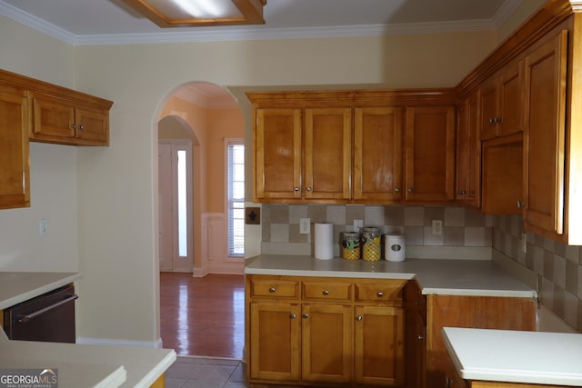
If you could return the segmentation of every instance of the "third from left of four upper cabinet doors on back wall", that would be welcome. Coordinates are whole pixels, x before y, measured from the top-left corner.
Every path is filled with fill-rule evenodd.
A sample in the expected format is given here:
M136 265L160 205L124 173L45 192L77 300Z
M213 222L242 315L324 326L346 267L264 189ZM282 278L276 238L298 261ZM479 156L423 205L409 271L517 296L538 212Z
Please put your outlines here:
M402 199L402 108L356 108L354 199L394 203Z

